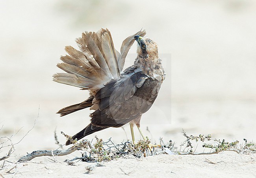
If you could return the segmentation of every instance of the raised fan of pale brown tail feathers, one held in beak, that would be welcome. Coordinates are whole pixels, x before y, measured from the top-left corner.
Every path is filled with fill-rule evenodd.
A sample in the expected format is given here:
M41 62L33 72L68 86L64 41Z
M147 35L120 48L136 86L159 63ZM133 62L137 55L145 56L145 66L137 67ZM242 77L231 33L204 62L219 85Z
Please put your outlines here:
M53 81L90 90L95 94L104 84L120 77L125 57L134 43L134 36L143 37L145 34L146 31L141 30L126 38L119 53L108 29L102 28L97 33L82 33L82 37L76 39L80 50L66 46L65 51L69 55L61 56L63 62L57 64L67 73L54 74Z

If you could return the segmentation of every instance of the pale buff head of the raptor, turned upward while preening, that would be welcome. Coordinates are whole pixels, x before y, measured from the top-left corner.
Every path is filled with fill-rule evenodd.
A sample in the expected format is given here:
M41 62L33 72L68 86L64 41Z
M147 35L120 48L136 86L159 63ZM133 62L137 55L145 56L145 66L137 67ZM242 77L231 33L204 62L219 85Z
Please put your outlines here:
M141 58L158 59L158 45L147 37L136 35L138 42L137 54Z

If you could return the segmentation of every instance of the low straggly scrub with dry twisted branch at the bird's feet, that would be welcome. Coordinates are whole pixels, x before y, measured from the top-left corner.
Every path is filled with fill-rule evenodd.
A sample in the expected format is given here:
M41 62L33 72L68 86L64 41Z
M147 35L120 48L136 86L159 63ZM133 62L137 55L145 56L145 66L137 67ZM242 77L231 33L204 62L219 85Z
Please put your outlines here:
M146 140L139 140L137 143L132 144L129 141L124 143L116 144L111 141L111 138L108 141L104 142L101 138L95 136L95 143L89 141L88 139L84 139L78 141L77 139L72 139L71 136L64 134L61 132L67 139L73 143L73 146L67 150L61 150L62 147L59 147L57 150L36 150L26 156L23 156L19 159L20 161L29 161L33 158L39 156L52 156L54 159L50 159L53 162L59 162L57 160L58 156L68 155L76 150L82 150L82 156L76 157L71 160L65 160L68 163L72 161L86 161L86 162L101 162L101 161L110 161L117 158L141 158L150 155L157 154L217 154L223 151L235 151L237 153L256 153L256 146L252 142L248 142L247 139L244 139L244 143L239 144L239 141L228 142L225 139L213 139L211 134L204 136L203 134L199 134L199 136L187 135L184 130L182 130L182 134L186 138L186 140L180 144L180 149L175 147L175 142L173 143L170 140L167 144L161 144L161 147L156 149L149 149L150 140L147 138ZM55 134L56 144L59 145L57 140L57 136ZM195 153L197 147L194 149L193 144L197 142L201 142L202 147L208 151ZM162 143L162 139L160 140ZM12 144L9 146L13 146ZM1 148L0 148L1 149ZM13 148L11 147L10 153L13 152ZM8 154L9 155L9 154ZM2 157L1 159L7 159L8 155Z

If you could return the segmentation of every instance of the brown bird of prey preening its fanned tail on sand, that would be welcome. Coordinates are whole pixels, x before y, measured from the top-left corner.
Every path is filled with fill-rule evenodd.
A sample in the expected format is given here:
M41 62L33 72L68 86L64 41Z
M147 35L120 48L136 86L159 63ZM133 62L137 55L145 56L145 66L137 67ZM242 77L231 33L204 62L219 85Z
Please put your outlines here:
M76 86L89 90L89 98L76 105L67 106L57 113L65 116L72 112L90 108L91 123L72 136L72 139L83 137L109 127L121 127L130 123L132 141L135 142L134 125L143 139L146 139L140 128L143 113L154 103L165 72L158 57L158 45L144 37L141 30L127 37L121 51L114 48L111 33L108 29L98 32L83 32L76 39L80 50L66 46L69 55L61 56L59 68L67 73L56 73L53 80L58 83ZM137 58L132 66L122 71L128 51L137 41ZM71 144L67 140L66 145Z

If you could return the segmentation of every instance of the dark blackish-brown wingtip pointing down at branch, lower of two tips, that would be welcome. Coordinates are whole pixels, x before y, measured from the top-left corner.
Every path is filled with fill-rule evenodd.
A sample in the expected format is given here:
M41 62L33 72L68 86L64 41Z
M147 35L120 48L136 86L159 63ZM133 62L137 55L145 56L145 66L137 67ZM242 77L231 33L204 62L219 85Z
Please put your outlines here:
M87 135L93 134L94 132L98 132L98 131L103 130L105 128L108 128L108 127L96 127L96 126L93 126L90 123L83 130L81 130L80 132L78 132L77 134L72 136L72 139L80 140L80 139L82 139L83 137L85 137ZM70 140L67 140L66 145L70 145L70 144L71 144Z

